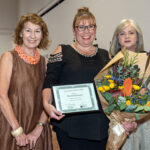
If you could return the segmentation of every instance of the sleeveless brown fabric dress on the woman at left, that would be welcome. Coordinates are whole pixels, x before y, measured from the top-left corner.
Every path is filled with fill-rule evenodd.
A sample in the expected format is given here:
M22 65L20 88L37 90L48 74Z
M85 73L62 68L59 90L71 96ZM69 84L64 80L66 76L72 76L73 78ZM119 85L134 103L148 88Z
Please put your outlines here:
M16 51L13 55L13 69L8 91L8 97L19 124L25 134L31 132L43 111L42 86L45 77L45 59L31 65L23 61ZM29 150L29 146L19 147L11 136L11 127L0 110L0 150ZM45 125L41 136L37 140L35 150L52 150L51 132L49 124Z

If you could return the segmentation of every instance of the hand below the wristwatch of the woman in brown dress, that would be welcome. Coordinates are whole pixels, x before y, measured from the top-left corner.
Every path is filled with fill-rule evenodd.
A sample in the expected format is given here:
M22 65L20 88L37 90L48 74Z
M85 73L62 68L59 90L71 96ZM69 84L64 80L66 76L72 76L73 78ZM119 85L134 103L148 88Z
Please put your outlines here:
M29 134L27 134L27 140L29 142L30 149L33 149L35 147L37 139L40 137L42 130L43 130L43 127L37 124L34 130L30 132Z

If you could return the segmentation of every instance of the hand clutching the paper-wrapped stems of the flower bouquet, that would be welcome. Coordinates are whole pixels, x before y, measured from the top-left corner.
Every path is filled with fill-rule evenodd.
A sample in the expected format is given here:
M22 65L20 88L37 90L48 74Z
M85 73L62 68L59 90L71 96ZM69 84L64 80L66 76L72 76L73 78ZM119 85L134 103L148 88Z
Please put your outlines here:
M133 122L125 121L125 122L122 122L122 125L123 125L123 128L125 129L125 132L127 135L129 135L129 133L131 131L135 130L137 127L137 123L135 121L133 121Z

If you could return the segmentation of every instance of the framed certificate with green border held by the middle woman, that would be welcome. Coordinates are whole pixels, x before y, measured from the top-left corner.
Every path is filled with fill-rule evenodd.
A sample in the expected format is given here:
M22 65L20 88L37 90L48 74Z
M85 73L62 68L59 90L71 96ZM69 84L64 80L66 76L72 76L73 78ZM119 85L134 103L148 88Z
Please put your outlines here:
M63 114L99 110L93 83L53 86L56 109Z

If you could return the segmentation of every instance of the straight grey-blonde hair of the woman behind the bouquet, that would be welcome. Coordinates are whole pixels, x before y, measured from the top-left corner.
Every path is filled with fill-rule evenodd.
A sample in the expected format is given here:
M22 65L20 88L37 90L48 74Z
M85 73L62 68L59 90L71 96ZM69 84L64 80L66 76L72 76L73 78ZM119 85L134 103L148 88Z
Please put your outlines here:
M121 50L121 46L119 44L118 35L122 32L124 28L128 25L131 25L137 33L137 48L136 52L144 51L144 43L143 43L143 35L141 28L139 25L132 19L123 19L120 24L116 27L115 32L112 37L111 45L110 45L110 54L114 56L118 51Z

